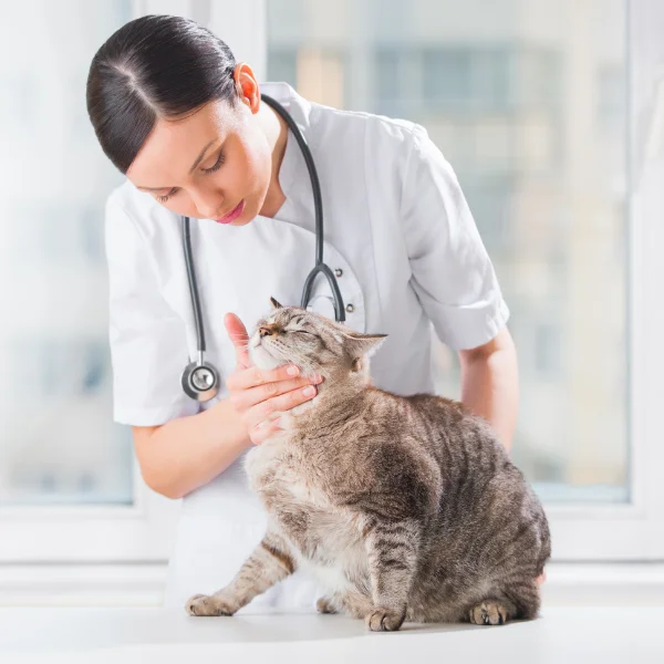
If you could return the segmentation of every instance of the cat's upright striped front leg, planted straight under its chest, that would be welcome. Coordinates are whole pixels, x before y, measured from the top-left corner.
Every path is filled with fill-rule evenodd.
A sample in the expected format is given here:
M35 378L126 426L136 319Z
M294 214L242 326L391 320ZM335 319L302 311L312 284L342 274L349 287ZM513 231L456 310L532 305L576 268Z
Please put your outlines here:
M419 537L419 526L411 519L375 521L365 530L374 604L365 622L372 632L392 632L402 626L417 568Z

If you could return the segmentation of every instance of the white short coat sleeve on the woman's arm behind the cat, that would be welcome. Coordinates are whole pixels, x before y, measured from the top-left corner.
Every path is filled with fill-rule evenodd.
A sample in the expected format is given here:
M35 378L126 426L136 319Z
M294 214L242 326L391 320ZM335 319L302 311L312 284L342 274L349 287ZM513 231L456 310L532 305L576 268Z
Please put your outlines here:
M477 347L509 310L452 166L419 125L406 145L401 214L412 286L442 342Z

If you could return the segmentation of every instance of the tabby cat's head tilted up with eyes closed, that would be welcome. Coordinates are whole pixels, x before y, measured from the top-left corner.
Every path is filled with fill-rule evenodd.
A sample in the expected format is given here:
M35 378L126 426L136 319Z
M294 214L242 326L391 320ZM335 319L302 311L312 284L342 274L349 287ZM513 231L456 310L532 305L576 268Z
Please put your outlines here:
M282 307L258 321L249 340L249 357L261 369L297 364L304 375L369 378L369 357L386 334L362 334L300 307Z

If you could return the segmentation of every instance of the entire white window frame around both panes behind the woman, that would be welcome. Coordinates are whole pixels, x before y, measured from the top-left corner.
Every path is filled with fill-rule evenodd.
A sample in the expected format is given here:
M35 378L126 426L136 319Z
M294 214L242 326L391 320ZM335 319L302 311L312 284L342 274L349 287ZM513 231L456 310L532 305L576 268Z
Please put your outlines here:
M135 15L183 13L228 40L238 60L267 71L264 0L135 0ZM664 375L664 6L627 0L627 357L629 504L546 505L553 560L664 559L664 443L658 426ZM234 25L232 35L228 25ZM134 463L134 505L0 508L0 563L166 562L179 501L151 491Z

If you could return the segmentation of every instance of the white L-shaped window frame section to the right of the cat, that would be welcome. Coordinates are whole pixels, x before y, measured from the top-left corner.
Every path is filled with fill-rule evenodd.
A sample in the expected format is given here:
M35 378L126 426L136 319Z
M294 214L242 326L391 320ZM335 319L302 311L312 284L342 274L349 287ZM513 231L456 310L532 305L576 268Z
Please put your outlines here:
M664 519L661 518L664 483L657 477L657 469L664 466L664 446L656 426L657 385L664 374L664 350L656 339L656 331L662 328L657 322L664 323L664 307L656 289L657 283L664 283L664 261L657 256L657 247L664 247L664 230L657 227L657 212L661 216L664 210L664 195L658 190L656 175L661 183L664 149L657 145L658 152L654 156L642 156L645 142L653 142L647 138L647 125L654 122L651 117L662 116L661 125L655 126L662 127L658 131L664 136L664 101L661 108L652 108L652 87L657 83L657 76L664 81L664 70L657 69L657 58L664 59L664 46L660 43L664 7L654 0L625 0L624 11L630 500L625 504L546 504L552 532L552 560L558 562L664 559ZM366 87L367 81L356 81L354 85ZM653 134L654 129L650 132ZM635 177L633 174L636 173L641 175Z

